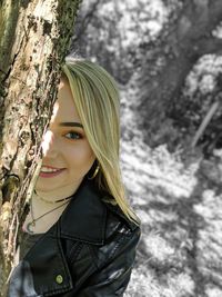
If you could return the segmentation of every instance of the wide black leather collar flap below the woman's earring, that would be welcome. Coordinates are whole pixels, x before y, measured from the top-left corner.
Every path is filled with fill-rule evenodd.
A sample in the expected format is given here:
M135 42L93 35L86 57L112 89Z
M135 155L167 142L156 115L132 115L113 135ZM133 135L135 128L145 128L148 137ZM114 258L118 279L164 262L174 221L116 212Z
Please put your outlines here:
M103 245L107 207L102 197L95 182L84 178L58 221L59 236Z

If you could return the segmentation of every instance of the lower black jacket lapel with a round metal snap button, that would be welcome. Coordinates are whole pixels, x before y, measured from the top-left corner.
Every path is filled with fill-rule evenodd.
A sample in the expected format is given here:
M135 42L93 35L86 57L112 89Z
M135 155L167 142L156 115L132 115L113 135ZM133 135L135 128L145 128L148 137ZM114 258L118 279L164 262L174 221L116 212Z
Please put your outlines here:
M26 270L26 274L22 271L20 278L33 279L33 288L27 288L28 291L26 289L22 296L36 296L28 295L30 289L40 294L38 296L53 296L73 288L59 237L46 232L21 263L26 264L29 270Z

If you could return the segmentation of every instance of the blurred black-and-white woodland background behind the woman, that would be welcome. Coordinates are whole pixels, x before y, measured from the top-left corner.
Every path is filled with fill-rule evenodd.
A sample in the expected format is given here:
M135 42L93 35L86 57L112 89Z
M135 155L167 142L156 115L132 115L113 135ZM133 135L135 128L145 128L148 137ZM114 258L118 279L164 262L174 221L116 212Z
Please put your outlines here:
M85 0L71 51L121 96L121 166L142 220L125 297L222 296L222 1Z

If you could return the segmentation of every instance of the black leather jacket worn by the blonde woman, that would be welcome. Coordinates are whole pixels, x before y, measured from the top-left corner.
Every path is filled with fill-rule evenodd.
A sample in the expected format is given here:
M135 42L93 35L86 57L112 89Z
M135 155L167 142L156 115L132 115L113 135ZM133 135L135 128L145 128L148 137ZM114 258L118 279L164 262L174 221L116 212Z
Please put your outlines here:
M123 296L140 228L84 179L59 220L13 269L9 297Z

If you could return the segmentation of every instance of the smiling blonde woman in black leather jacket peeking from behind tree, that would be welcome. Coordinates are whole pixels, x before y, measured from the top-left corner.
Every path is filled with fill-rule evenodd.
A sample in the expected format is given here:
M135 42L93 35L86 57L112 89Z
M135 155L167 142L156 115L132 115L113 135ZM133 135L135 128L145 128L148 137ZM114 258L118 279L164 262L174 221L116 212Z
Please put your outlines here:
M67 60L9 297L123 296L140 222L121 180L119 128L114 80Z

